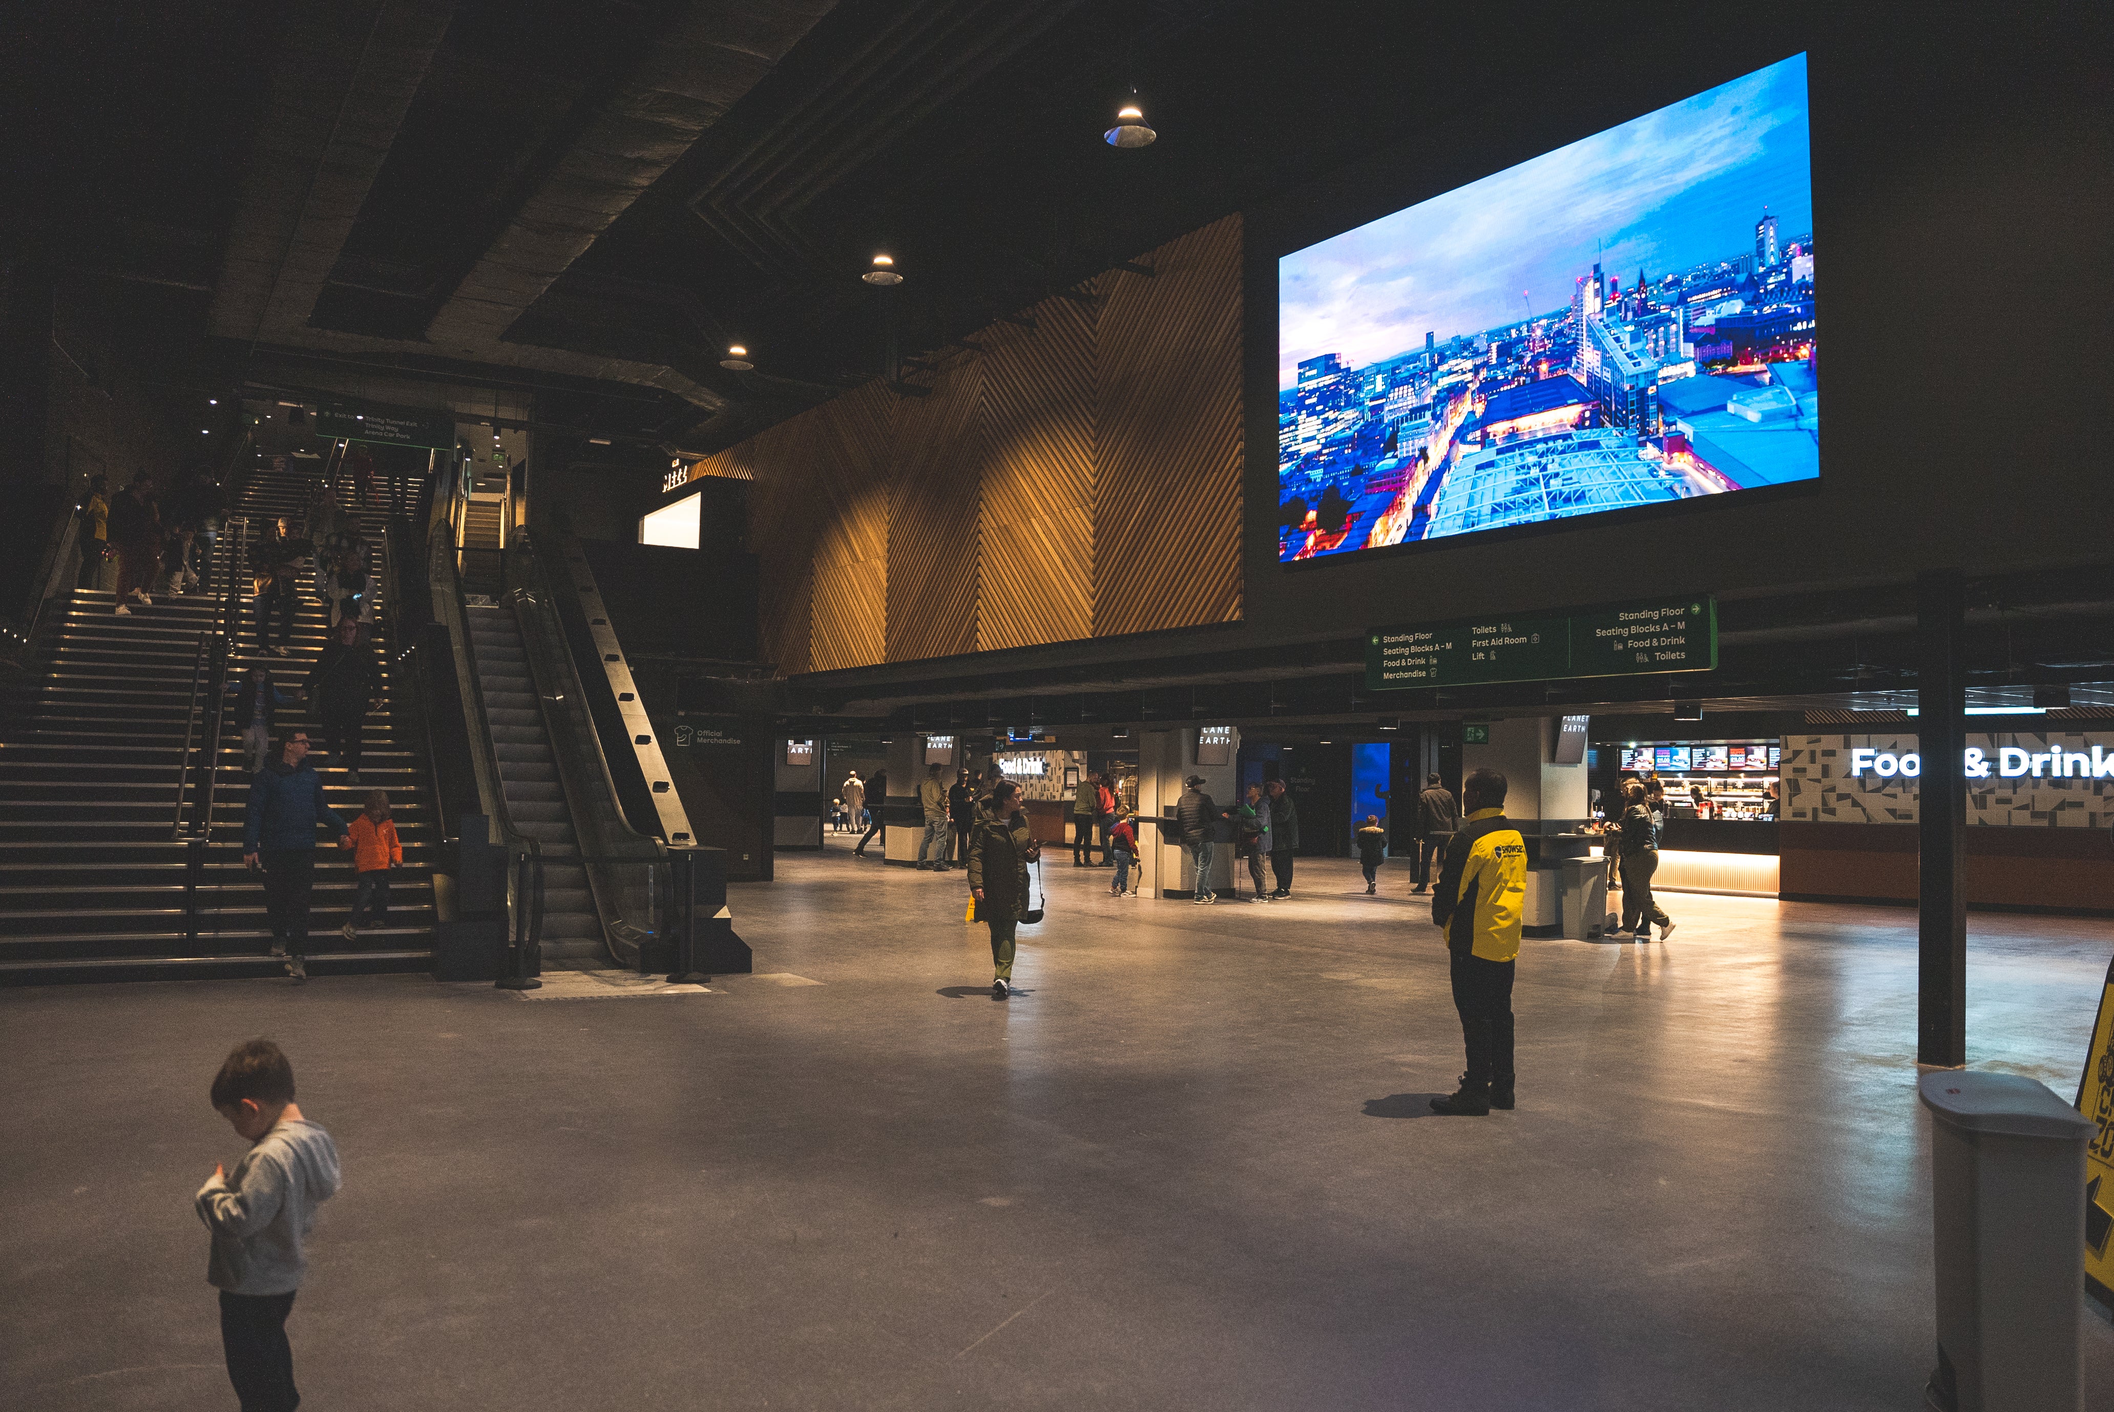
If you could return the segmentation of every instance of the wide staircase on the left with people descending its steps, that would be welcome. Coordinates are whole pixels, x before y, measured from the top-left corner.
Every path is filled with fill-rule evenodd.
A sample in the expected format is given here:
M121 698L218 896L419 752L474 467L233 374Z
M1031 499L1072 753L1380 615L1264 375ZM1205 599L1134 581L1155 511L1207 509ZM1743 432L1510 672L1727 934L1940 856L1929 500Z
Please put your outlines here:
M302 471L260 469L233 514L254 526L285 516L298 531L311 484ZM338 495L368 537L370 562L378 562L381 505L359 509L349 484ZM190 877L194 939L186 924L192 854L173 837L192 668L214 619L209 590L226 581L228 539L222 533L207 590L190 596L154 596L152 607L135 602L118 615L108 592L76 590L42 685L0 723L0 983L281 974L266 955L264 890L241 860L249 776L243 723L233 710L214 742L211 833ZM279 687L304 685L321 653L326 617L307 564L298 586L285 657L258 653L256 613L243 600L230 683L249 666L264 666ZM321 750L309 759L347 822L366 788L389 791L404 867L391 879L389 926L347 943L338 928L351 913L355 873L319 831L311 974L431 964L433 812L423 767L391 714L387 638L376 651L383 700L368 712L364 788L353 788L342 765ZM283 706L279 723L313 731L307 712L307 702Z

